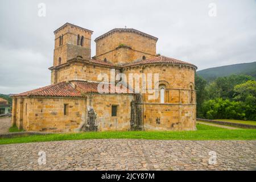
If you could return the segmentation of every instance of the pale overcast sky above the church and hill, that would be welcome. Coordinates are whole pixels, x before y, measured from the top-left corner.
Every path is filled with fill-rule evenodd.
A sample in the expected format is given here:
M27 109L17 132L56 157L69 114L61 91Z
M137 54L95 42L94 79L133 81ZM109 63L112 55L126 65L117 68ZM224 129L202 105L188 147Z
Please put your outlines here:
M39 3L46 5L45 17L38 16ZM210 3L216 16L209 16ZM256 61L253 0L0 0L0 22L0 93L5 94L50 84L53 31L66 22L93 30L92 40L113 28L135 28L159 38L157 53L199 70Z

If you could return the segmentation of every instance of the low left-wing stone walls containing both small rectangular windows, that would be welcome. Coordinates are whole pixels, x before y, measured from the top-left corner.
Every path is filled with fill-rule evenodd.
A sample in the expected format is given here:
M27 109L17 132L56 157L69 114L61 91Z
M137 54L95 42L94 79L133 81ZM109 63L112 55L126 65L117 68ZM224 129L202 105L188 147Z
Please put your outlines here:
M86 98L13 98L12 125L25 131L72 132L87 125L88 107L96 115L97 131L130 130L131 94L91 94ZM13 102L15 103L15 101ZM64 115L64 104L68 104ZM112 117L112 105L117 116Z

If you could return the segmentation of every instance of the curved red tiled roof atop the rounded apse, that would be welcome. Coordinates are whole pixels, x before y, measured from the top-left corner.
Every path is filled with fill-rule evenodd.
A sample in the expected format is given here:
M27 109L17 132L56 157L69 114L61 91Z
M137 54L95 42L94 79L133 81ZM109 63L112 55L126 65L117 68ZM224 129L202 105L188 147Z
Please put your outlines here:
M192 67L197 68L195 65L191 63L187 63L185 61L180 61L180 60L173 59L171 57L166 57L166 56L158 56L158 57L153 57L147 60L141 60L133 63L124 64L122 65L122 67L130 67L134 65L154 64L154 63L184 64L184 65L191 65Z

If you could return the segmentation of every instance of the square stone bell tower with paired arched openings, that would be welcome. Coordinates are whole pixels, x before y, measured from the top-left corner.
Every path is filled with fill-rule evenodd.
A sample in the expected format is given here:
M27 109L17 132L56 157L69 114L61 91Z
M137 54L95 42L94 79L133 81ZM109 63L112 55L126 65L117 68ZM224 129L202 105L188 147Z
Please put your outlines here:
M67 63L68 60L79 56L90 59L90 42L93 31L65 23L54 31L55 46L53 67Z

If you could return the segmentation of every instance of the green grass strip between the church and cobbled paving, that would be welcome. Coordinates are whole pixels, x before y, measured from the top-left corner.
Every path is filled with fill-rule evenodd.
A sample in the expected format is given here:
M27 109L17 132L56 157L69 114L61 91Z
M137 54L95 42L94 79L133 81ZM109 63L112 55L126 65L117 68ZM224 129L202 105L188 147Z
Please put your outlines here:
M197 131L106 131L1 138L0 144L80 139L255 140L256 130L228 130L197 124Z

